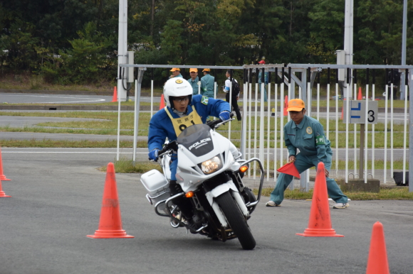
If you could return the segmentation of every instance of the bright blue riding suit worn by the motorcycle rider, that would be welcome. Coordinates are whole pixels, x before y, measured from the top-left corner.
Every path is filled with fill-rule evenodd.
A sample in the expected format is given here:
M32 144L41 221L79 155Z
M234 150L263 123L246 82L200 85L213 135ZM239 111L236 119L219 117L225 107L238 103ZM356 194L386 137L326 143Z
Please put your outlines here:
M179 115L174 113L171 108L167 107L172 118L179 118ZM197 110L199 116L201 116L202 123L205 124L206 117L215 116L219 117L222 111L229 111L229 104L220 99L206 98L202 95L195 95L192 97L191 104L188 105L187 114L193 111L193 108ZM152 116L149 123L149 134L147 147L149 151L155 148L161 149L165 143L166 138L169 141L177 140L177 134L174 131L174 126L169 118L165 109L157 111L157 113ZM175 177L177 173L177 154L172 154L171 162L169 168L171 170L171 180L177 180Z

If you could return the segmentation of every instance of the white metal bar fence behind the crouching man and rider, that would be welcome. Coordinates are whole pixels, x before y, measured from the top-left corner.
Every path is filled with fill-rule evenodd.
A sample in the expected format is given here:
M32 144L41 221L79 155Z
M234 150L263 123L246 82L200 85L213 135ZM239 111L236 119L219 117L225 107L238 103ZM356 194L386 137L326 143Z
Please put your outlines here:
M142 84L142 76L147 68L162 67L162 68L199 68L209 67L211 70L244 70L244 89L243 89L243 119L241 126L240 149L241 153L246 158L258 157L261 160L266 160L266 176L267 181L276 181L275 170L282 163L286 162L288 157L286 149L283 149L283 126L285 119L289 121L289 116L284 118L285 97L289 99L300 98L306 103L307 115L313 116L316 119L324 119L325 116L325 135L331 138L333 159L335 166L332 166L331 171L335 170L335 175L343 177L345 182L348 182L350 177L359 177L365 179L367 177L380 176L380 181L386 183L391 181L391 176L394 171L394 161L402 160L402 172L405 176L406 171L413 168L412 150L407 147L407 143L413 143L413 121L412 114L409 109L412 103L408 104L408 94L412 94L412 68L413 66L406 65L325 65L325 64L268 64L268 65L244 65L242 67L231 66L194 66L194 65L120 65L121 67L137 67L137 80L135 82L135 107L139 109L140 104L140 89ZM261 81L258 79L258 72L261 72ZM268 85L264 80L264 73L268 72ZM397 72L397 73L396 73ZM320 75L323 77L323 87L325 87L325 95L321 91ZM357 77L360 75L360 77ZM361 76L362 75L362 76ZM377 75L381 75L383 79L377 79ZM384 75L384 76L383 76ZM390 77L391 75L392 77ZM399 75L399 77L394 77ZM273 77L271 77L273 76ZM389 76L389 77L388 77ZM239 79L240 82L240 79ZM258 85L258 82L261 84ZM340 121L343 113L350 114L350 100L357 99L360 94L357 92L358 83L362 82L365 89L365 96L362 101L365 102L365 111L368 111L369 104L373 105L378 98L375 97L376 91L386 92L385 107L379 109L377 119L380 119L380 128L368 121L368 113L365 113L365 124L360 124L360 129L357 124L351 126L350 119ZM376 82L379 84L377 85ZM395 82L400 82L396 87ZM241 84L241 82L240 82ZM315 87L313 87L315 86ZM152 89L153 86L151 85ZM333 87L333 88L332 88ZM399 88L400 99L404 101L404 106L397 109L394 108L394 97L389 94L394 94ZM268 101L264 102L263 94L260 90L267 89ZM215 90L216 84L215 84ZM409 91L409 92L408 92ZM216 94L215 92L215 94ZM232 92L232 91L230 91ZM261 96L258 96L260 95ZM153 97L153 94L152 94ZM230 96L231 98L231 96ZM324 102L325 106L320 106ZM278 104L279 102L279 104ZM343 107L340 109L339 102L342 102ZM152 105L151 105L152 106ZM153 107L151 107L153 109ZM397 124L397 132L394 132L394 121L397 121L395 114L399 119L402 119L402 124ZM380 118L380 116L382 118ZM344 118L347 118L345 116ZM258 120L259 119L259 120ZM135 111L135 128L139 120L139 111ZM390 123L390 126L388 124ZM409 128L407 129L407 124ZM345 125L345 130L340 128ZM400 127L402 130L400 131ZM409 131L409 136L407 136ZM387 132L390 132L390 141L387 140ZM278 134L279 133L279 134ZM386 133L386 134L385 134ZM400 133L402 136L400 136ZM135 134L137 135L137 133ZM343 135L345 136L343 140ZM350 136L352 135L352 138ZM384 136L384 143L377 145L377 140ZM380 136L380 137L379 137ZM228 137L231 138L231 123L229 123ZM394 149L394 138L397 143L400 143L399 138L402 138L402 148ZM370 140L370 146L367 144ZM345 142L345 148L339 148L339 145ZM136 143L136 142L134 142ZM352 143L352 148L350 148ZM136 145L135 145L136 146ZM378 148L383 146L383 148ZM344 151L343 151L344 150ZM377 153L383 150L383 157ZM409 151L407 155L407 151ZM395 155L397 152L397 155ZM134 153L135 155L135 153ZM358 157L357 157L358 156ZM390 158L390 164L387 165L387 157ZM406 169L407 157L409 159L409 168ZM377 170L375 168L375 160L383 158L383 168ZM134 159L135 160L135 159ZM345 169L339 170L338 163L340 160L345 161ZM357 166L357 161L360 165ZM273 163L271 163L273 162ZM350 170L349 163L352 163L353 168ZM370 168L369 168L370 167ZM249 176L255 177L255 168ZM273 173L271 172L273 170ZM380 171L380 172L378 172ZM339 174L342 172L342 174ZM331 173L331 172L330 172ZM413 175L409 173L409 181ZM403 182L406 182L403 177ZM310 176L309 172L303 172L300 179L300 190L309 190ZM291 184L293 187L293 184ZM409 186L409 192L413 191L413 187Z

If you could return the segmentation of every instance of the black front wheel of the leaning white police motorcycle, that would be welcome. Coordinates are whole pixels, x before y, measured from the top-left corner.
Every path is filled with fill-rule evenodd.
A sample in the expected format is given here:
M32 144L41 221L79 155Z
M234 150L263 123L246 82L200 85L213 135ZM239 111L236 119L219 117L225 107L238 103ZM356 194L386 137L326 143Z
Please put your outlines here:
M256 241L253 239L251 230L249 229L248 224L246 224L246 220L241 214L241 211L231 194L225 192L219 195L219 197L216 197L216 202L219 204L222 213L224 213L229 226L231 226L232 231L234 231L237 236L242 248L246 250L255 248Z

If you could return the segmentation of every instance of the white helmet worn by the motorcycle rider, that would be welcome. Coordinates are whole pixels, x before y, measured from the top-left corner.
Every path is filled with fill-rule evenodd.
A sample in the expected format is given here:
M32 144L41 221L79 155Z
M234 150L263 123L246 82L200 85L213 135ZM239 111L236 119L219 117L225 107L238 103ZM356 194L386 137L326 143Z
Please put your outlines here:
M187 96L189 97L188 104L191 104L192 92L193 89L191 87L191 84L189 84L187 80L184 80L184 78L181 77L171 78L167 80L164 85L164 99L165 102L167 102L167 106L169 106L171 109L174 107L174 103L172 102L172 99L174 97Z

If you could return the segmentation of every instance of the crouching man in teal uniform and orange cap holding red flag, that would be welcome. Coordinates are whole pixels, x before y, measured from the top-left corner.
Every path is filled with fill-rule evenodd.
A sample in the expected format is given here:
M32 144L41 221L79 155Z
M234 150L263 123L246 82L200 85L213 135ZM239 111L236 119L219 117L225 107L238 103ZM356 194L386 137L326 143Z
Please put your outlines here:
M284 126L288 161L293 161L300 173L314 166L317 168L318 163L323 162L328 195L336 202L333 208L345 209L349 206L347 196L343 194L335 180L328 177L333 151L330 148L330 141L324 136L323 126L319 121L305 115L305 104L301 99L290 100L287 111L291 117L291 121ZM300 150L298 154L297 148ZM266 203L267 207L280 206L284 199L284 191L292 180L293 175L281 173L278 176L270 201Z

